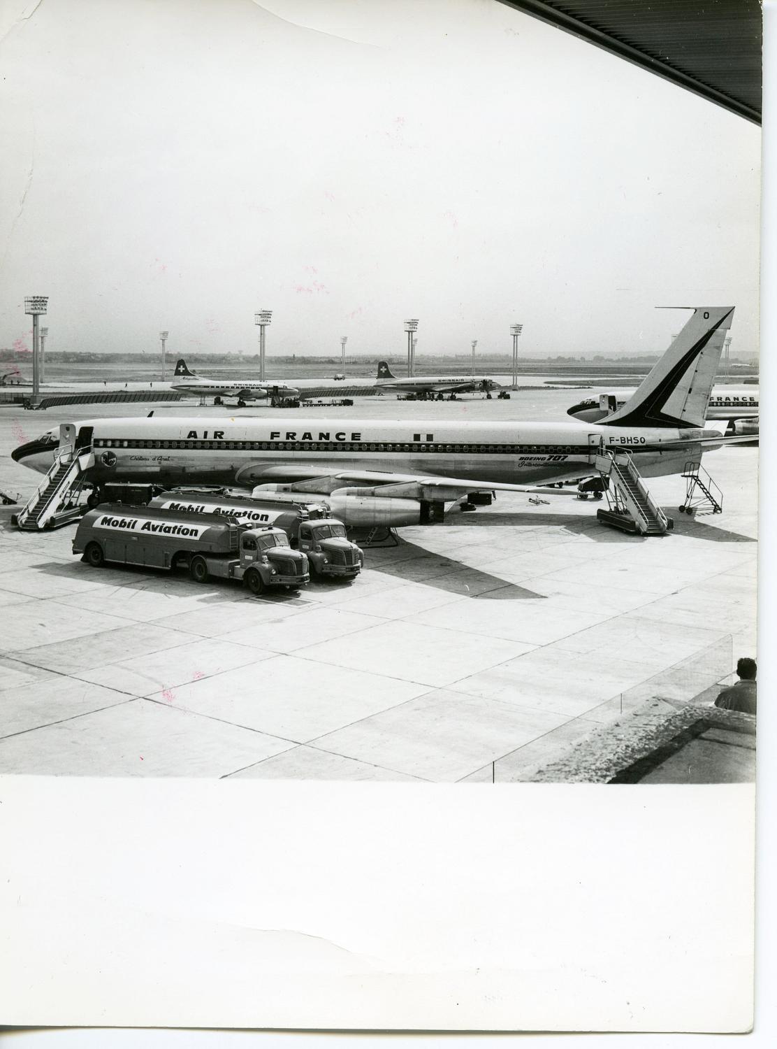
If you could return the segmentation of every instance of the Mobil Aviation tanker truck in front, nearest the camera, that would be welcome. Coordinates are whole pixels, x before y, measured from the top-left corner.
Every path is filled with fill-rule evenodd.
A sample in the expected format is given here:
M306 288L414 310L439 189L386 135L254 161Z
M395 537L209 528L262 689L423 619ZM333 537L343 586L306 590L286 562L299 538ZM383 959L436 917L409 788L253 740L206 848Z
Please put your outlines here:
M88 511L72 541L73 554L98 568L105 561L154 569L188 568L196 582L244 580L253 594L308 582L307 557L292 550L277 528L245 528L234 517L191 517L158 507L106 504Z

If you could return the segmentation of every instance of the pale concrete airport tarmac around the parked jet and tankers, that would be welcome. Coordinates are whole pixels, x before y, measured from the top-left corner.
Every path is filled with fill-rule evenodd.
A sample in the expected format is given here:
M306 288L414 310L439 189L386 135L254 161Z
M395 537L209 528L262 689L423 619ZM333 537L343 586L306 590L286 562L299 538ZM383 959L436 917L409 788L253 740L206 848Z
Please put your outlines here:
M327 414L566 421L569 403L564 390L380 398ZM0 409L0 488L28 497L40 477L10 450L74 418ZM756 655L758 449L704 466L721 514L679 514L686 481L649 481L674 517L664 537L600 524L593 500L500 494L403 529L351 584L299 596L91 569L70 552L73 526L19 532L3 507L0 772L519 779L646 699L729 683Z

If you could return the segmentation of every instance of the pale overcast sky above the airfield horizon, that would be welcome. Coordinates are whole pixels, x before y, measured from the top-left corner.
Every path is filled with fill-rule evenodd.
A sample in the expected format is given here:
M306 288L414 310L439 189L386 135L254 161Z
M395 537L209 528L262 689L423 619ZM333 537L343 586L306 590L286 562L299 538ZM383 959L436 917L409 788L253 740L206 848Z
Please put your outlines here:
M50 350L757 349L759 129L496 0L2 18L0 346L40 294Z

